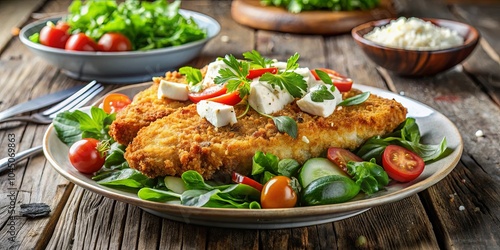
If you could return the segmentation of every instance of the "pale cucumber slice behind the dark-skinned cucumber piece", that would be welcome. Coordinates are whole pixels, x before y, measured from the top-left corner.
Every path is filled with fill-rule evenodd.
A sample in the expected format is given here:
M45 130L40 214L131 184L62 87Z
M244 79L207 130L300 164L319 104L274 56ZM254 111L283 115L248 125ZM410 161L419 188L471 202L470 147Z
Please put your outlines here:
M342 175L349 177L342 169L326 158L311 158L304 163L299 173L299 182L302 187L307 187L312 181L328 176Z

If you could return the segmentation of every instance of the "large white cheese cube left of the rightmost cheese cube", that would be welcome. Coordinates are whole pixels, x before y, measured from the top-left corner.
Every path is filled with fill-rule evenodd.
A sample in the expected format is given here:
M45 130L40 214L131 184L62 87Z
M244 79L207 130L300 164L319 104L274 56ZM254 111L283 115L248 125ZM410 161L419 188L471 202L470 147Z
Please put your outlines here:
M266 82L259 82L258 79L254 79L250 83L248 103L258 112L272 114L280 111L293 100L293 96L286 90L273 89Z

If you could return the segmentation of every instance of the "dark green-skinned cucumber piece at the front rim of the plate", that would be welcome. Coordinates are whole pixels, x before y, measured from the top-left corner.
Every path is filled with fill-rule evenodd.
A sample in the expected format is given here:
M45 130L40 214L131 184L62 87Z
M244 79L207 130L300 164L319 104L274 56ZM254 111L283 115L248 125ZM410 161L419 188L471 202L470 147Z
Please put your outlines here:
M352 179L342 175L329 175L312 181L302 192L302 205L326 205L351 200L360 187Z

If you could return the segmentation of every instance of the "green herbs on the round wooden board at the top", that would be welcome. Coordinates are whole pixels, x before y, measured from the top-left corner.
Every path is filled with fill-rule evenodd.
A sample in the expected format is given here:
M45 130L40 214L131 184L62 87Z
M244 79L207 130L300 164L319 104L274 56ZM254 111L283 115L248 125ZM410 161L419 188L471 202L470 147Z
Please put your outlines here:
M289 12L299 13L310 10L369 10L377 7L380 0L261 0L263 5L285 7Z

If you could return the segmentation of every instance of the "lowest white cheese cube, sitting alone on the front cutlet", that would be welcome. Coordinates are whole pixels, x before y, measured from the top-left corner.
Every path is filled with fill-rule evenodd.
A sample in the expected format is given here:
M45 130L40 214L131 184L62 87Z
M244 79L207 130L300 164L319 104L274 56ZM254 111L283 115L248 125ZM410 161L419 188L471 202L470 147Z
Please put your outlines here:
M237 122L234 107L222 103L200 101L196 104L196 112L215 127L233 125Z

